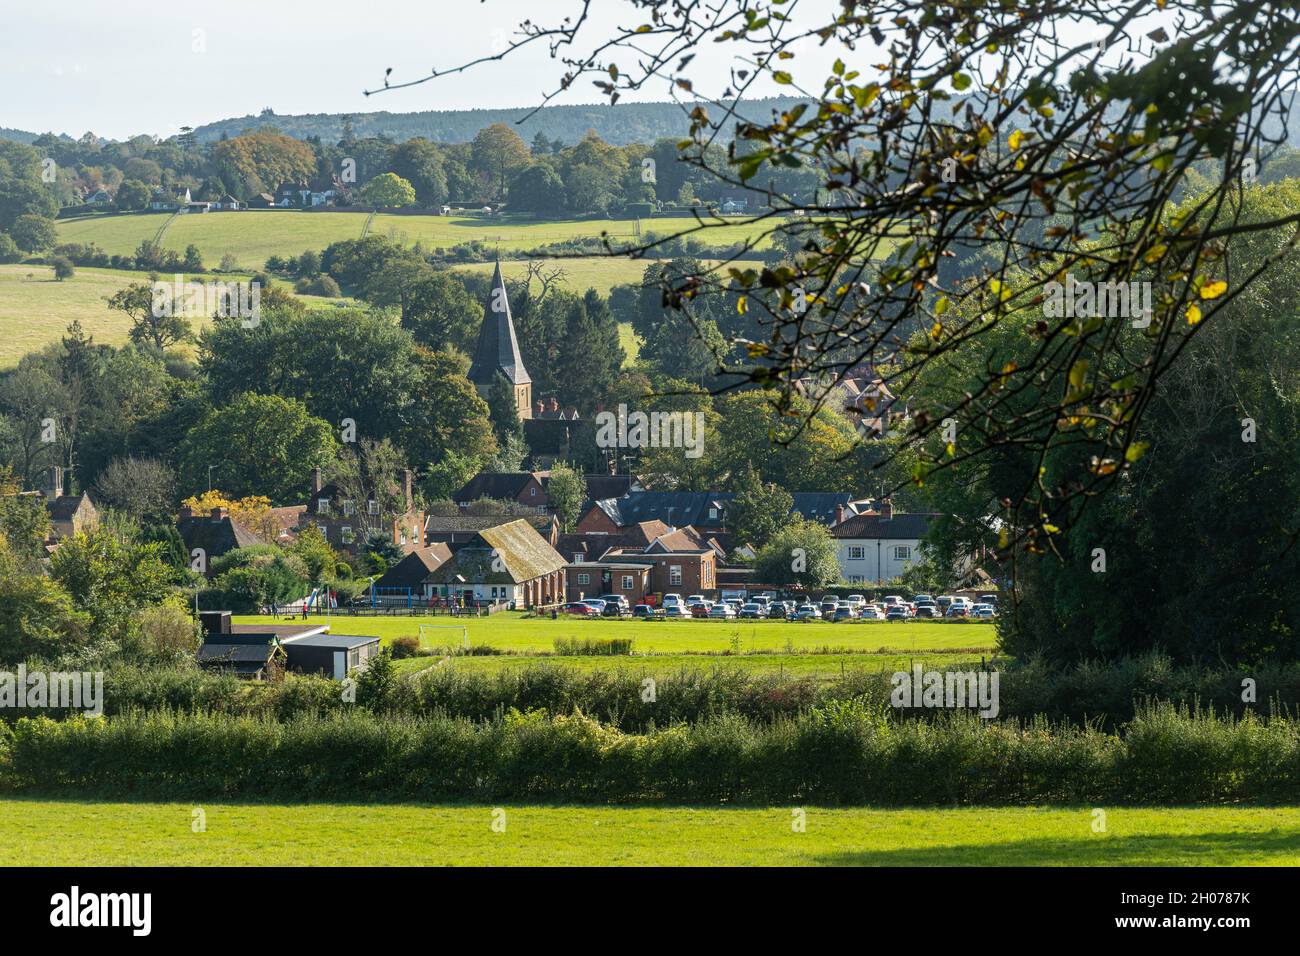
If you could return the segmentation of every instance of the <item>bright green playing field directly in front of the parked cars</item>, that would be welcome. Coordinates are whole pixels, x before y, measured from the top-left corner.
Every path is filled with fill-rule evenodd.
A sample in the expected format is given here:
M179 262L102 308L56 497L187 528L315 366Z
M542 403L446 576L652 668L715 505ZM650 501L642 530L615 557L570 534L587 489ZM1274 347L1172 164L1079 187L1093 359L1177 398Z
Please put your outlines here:
M239 624L268 623L266 617L237 617ZM313 614L311 623L325 623L322 614ZM988 649L997 644L992 624L907 622L842 622L794 623L786 620L586 620L560 617L530 618L521 611L503 611L490 618L438 617L350 617L329 618L330 633L364 635L391 641L394 637L419 637L420 624L439 630L425 636L426 646L460 645L460 627L468 631L469 644L485 644L502 650L550 652L556 637L632 637L638 654L732 653L751 650L800 652L876 652L881 648L897 653ZM452 630L455 628L455 630Z

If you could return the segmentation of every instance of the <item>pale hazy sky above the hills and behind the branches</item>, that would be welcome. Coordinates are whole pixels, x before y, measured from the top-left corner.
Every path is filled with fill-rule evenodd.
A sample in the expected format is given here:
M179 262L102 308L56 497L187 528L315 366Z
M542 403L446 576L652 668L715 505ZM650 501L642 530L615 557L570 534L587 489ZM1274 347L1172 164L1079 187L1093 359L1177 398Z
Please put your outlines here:
M806 12L832 0L798 0ZM109 139L260 113L506 108L536 104L563 66L547 52L408 90L364 96L494 52L529 16L552 22L576 0L58 0L5 4L0 29L0 126L32 133L92 131ZM632 22L623 0L599 0L593 35ZM640 22L640 20L637 21ZM604 33L602 33L602 30ZM706 44L692 66L720 92L732 44ZM833 51L809 48L824 75ZM805 64L805 59L800 62ZM814 62L807 62L812 66ZM809 75L812 75L810 69ZM667 100L666 82L628 99ZM766 86L755 95L790 92ZM589 83L558 103L599 103Z

